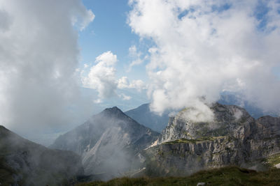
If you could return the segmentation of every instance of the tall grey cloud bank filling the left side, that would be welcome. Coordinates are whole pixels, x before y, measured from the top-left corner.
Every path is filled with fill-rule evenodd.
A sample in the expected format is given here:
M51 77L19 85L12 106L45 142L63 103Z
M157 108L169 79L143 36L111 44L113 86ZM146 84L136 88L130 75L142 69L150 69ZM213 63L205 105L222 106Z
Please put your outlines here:
M17 130L73 121L78 29L94 14L79 0L0 1L0 123Z

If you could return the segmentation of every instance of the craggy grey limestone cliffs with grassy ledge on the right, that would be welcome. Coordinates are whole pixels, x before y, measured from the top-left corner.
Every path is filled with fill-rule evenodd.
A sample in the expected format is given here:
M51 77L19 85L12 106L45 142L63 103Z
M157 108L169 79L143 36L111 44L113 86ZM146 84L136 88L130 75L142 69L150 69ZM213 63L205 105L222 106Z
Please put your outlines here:
M280 118L263 116L255 121L234 105L214 104L211 110L209 122L191 121L185 117L187 109L171 118L158 145L143 152L147 171L186 175L232 164L262 169L256 162L280 153Z

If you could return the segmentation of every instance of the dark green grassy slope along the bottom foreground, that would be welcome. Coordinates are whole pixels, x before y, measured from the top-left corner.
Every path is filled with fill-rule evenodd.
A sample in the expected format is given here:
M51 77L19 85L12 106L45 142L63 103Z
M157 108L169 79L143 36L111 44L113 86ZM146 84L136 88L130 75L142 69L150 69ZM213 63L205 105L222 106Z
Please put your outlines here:
M92 183L81 183L77 186L106 186L106 185L279 185L280 169L269 169L266 172L256 172L241 169L236 166L228 166L209 171L199 171L187 177L166 178L115 178L108 182L95 181Z

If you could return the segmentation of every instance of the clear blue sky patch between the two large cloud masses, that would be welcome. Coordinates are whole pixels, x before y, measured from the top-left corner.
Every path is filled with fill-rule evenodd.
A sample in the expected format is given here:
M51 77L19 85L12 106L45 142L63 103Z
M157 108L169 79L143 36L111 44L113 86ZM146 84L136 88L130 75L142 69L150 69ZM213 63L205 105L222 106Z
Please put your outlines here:
M138 42L139 38L132 33L126 24L127 13L130 10L127 1L83 1L87 8L94 11L95 20L79 33L82 64L95 61L95 58L106 51L118 54L116 68L118 76L126 74L129 65L129 48ZM144 69L141 69L144 70ZM145 71L130 73L133 78L143 77Z

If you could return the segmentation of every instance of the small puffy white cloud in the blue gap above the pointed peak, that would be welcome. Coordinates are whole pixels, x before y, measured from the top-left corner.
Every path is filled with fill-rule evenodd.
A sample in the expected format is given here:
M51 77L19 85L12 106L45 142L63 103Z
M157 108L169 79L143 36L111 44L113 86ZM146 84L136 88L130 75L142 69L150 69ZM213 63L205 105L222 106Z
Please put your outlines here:
M96 89L99 98L111 98L116 95L116 68L117 56L111 51L104 52L96 58L96 65L92 65L90 72L83 77L83 86ZM99 99L100 100L100 99Z

